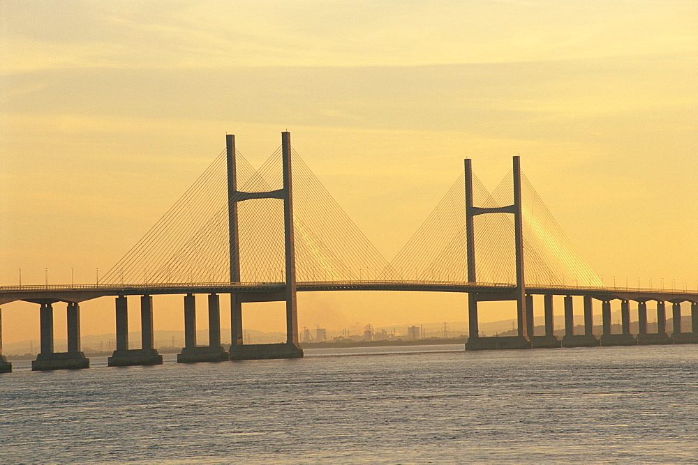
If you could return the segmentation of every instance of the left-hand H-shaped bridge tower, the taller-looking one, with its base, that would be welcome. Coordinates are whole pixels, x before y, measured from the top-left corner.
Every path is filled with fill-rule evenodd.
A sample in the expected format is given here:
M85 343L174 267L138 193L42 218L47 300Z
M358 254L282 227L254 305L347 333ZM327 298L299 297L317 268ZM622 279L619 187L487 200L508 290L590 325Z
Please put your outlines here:
M228 162L228 235L230 245L230 282L240 282L240 243L237 202L248 199L281 199L283 201L283 231L285 257L285 289L283 292L230 294L230 323L232 343L230 360L260 358L301 358L303 349L298 344L298 315L296 307L296 263L293 241L293 195L291 183L291 134L281 132L283 160L283 187L269 192L242 192L237 190L235 136L225 136ZM286 343L243 344L242 304L245 302L285 301Z

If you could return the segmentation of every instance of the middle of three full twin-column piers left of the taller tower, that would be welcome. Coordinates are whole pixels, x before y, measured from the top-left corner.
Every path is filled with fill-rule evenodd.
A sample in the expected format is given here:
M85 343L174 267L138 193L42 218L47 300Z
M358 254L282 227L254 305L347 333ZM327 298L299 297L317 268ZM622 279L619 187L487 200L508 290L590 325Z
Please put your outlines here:
M162 365L163 356L154 348L153 298L140 298L141 349L128 349L128 303L126 296L116 298L117 350L107 358L110 367Z

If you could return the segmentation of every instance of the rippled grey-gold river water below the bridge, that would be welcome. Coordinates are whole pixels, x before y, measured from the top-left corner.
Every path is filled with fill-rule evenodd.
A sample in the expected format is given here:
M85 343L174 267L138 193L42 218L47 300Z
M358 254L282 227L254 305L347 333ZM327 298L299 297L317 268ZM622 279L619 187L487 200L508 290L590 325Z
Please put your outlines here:
M698 346L311 349L0 375L0 463L698 462Z

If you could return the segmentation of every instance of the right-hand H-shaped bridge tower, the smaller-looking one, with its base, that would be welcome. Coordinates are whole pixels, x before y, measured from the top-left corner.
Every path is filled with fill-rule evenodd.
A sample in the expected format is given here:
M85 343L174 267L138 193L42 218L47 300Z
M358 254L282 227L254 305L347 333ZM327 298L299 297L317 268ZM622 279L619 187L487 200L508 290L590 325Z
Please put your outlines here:
M476 282L475 228L473 218L487 213L511 213L514 215L514 247L516 247L517 286L515 291L502 293L468 293L469 337L468 350L482 349L530 349L533 337L533 312L526 305L526 283L523 274L523 220L521 218L521 162L514 157L514 204L502 207L473 205L473 168L469 158L465 160L466 188L466 247L468 254L468 282ZM477 323L477 302L482 300L516 300L519 334L512 337L480 337Z

